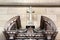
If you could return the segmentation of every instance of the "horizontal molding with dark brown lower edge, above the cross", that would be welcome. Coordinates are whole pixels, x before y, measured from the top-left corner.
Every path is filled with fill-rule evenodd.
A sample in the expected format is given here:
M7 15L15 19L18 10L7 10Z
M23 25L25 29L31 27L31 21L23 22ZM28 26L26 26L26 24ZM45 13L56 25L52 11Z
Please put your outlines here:
M60 7L59 3L0 3L0 7Z

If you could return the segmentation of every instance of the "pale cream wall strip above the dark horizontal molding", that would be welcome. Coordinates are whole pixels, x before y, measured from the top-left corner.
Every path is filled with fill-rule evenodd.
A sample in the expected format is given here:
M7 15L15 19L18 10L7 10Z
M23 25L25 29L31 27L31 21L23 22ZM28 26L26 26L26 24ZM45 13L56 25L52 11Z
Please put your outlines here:
M60 0L0 0L0 2L25 2L25 3L60 3Z

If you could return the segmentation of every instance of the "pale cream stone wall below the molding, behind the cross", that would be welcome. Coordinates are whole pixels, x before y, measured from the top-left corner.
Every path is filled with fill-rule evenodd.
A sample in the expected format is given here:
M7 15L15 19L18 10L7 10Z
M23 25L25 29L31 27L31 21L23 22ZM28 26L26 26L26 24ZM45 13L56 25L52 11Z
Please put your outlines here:
M25 28L27 24L28 13L27 10L29 7L0 7L0 31L2 35L2 29L5 27L7 21L12 18L13 16L20 15L21 16L21 24L22 28ZM35 13L33 13L33 20L34 25L36 25L36 28L39 27L40 23L40 16L41 15L50 15L49 17L52 18L52 20L55 22L56 27L58 29L58 35L56 39L60 39L60 7L33 7L32 8ZM55 16L56 16L56 19ZM3 40L3 37L1 36L1 39Z

